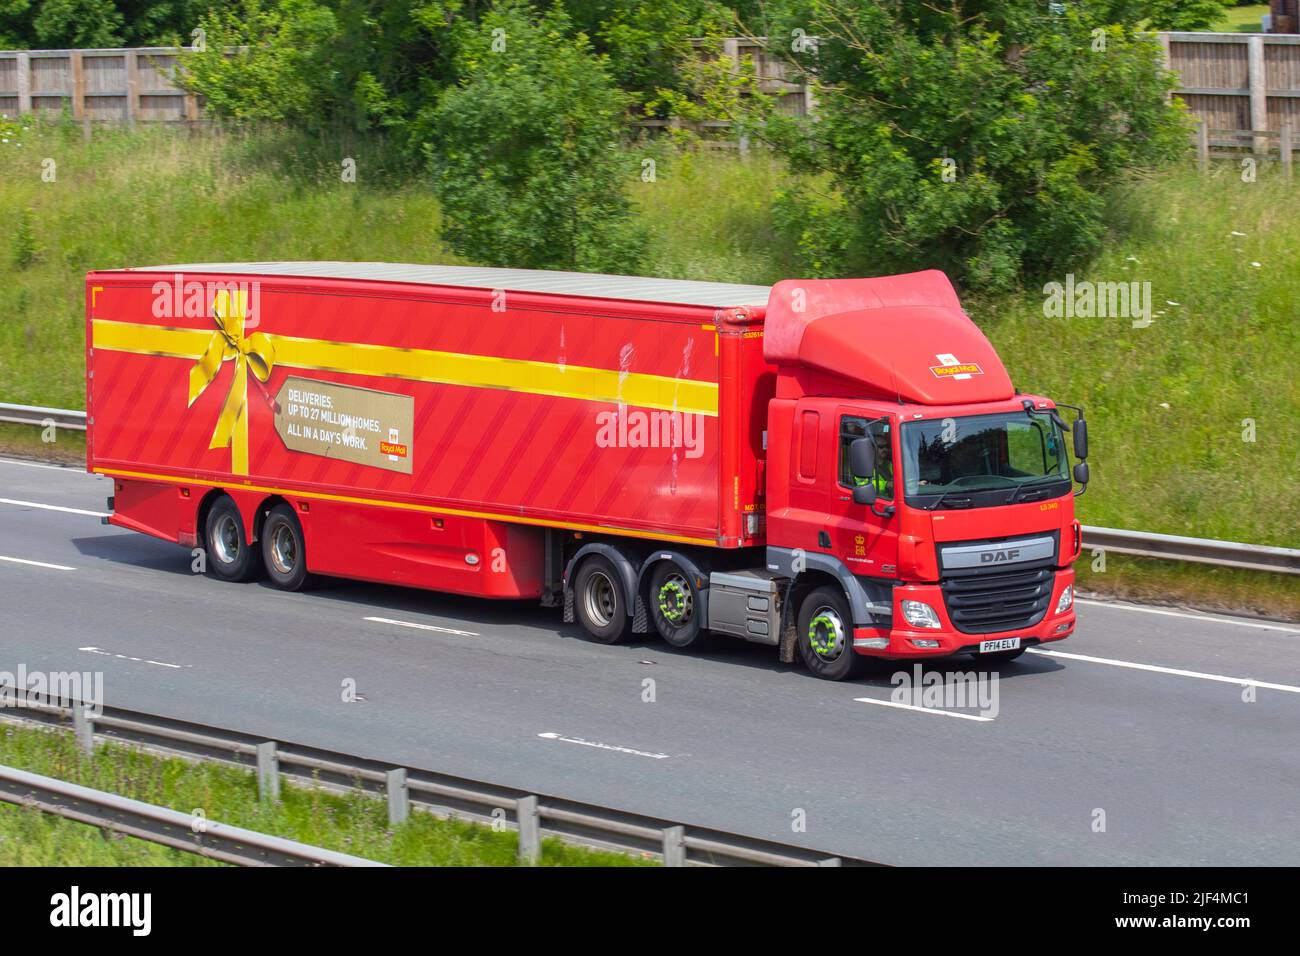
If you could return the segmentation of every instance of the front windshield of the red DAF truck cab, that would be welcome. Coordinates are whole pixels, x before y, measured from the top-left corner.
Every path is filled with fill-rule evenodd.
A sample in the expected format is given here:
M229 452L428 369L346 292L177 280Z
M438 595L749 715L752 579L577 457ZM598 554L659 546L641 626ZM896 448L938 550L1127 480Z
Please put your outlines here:
M1067 480L1061 429L1037 412L909 421L901 436L907 497Z

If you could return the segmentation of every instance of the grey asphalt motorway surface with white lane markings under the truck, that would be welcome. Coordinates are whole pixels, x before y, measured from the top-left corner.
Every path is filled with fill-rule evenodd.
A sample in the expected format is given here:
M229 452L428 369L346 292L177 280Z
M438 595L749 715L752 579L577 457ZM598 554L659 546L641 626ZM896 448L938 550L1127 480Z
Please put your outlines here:
M590 644L530 602L224 584L101 525L109 493L0 459L0 670L101 670L109 705L888 864L1300 864L1300 627L1080 601L1071 657L1005 665L996 718L962 719L861 701L893 665L833 684L742 643Z

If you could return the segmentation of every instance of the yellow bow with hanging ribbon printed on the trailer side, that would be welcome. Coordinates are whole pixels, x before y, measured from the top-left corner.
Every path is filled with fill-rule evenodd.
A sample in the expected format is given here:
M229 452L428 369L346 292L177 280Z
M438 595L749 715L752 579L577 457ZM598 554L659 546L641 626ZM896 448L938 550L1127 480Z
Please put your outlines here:
M230 449L230 471L235 475L248 473L248 368L259 381L270 377L276 364L276 349L270 337L261 332L244 336L244 317L248 315L248 294L238 290L217 293L212 304L212 317L217 330L212 333L208 347L190 369L190 405L192 406L204 389L221 371L221 363L233 359L235 363L234 381L226 393L226 403L221 408L217 427L212 431L209 449Z

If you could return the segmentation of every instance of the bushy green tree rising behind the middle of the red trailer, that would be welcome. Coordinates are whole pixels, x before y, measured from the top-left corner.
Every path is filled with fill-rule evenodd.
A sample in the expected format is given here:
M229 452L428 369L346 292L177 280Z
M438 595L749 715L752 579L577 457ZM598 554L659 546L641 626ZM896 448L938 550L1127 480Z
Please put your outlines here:
M420 121L451 247L489 265L634 271L629 98L568 16L507 0L458 26L455 69Z

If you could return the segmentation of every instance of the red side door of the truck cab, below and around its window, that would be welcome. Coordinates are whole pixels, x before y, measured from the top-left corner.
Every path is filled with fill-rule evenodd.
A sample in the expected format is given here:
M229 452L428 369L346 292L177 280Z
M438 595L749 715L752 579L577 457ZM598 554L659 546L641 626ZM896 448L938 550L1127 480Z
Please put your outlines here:
M892 415L881 416L861 406L840 405L828 416L827 447L832 462L826 483L826 531L829 548L853 574L868 578L892 578L898 566L898 518L887 516L896 509L902 493L898 475L898 423ZM876 444L876 503L853 501L855 479L849 470L849 445L857 438ZM897 485L897 486L896 486ZM826 538L823 538L824 541Z

